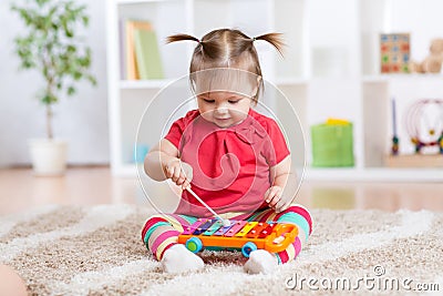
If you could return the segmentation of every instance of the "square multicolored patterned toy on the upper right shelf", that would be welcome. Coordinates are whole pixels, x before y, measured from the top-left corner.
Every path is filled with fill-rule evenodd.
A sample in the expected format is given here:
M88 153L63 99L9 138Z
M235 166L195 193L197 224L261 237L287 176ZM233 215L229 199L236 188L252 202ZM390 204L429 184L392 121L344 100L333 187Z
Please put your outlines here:
M410 34L380 34L380 57L382 73L409 73Z

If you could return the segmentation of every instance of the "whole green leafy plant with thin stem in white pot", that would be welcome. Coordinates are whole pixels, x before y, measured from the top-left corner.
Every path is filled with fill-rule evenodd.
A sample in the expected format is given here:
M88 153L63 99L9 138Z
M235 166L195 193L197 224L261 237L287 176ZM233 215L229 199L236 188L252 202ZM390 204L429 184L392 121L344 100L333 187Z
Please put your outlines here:
M74 95L75 85L95 78L89 72L91 49L78 31L87 28L86 7L72 0L27 0L11 6L24 22L27 33L14 39L22 69L37 70L44 86L38 99L45 108L47 137L30 141L31 160L38 175L63 174L68 145L53 135L53 106Z

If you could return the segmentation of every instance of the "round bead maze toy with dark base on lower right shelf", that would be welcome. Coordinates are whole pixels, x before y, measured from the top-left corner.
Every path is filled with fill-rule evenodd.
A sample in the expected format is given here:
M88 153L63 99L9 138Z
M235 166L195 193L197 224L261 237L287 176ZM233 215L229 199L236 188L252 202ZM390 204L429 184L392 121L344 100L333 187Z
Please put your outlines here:
M415 153L435 146L443 154L443 100L420 100L409 108L405 119Z

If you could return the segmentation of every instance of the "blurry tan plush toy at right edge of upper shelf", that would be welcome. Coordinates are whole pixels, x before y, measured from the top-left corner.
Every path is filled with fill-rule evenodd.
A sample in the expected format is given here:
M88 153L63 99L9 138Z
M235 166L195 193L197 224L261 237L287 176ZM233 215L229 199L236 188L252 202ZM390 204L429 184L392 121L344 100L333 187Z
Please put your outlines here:
M443 39L431 41L430 53L422 62L410 62L411 72L440 73L443 63Z

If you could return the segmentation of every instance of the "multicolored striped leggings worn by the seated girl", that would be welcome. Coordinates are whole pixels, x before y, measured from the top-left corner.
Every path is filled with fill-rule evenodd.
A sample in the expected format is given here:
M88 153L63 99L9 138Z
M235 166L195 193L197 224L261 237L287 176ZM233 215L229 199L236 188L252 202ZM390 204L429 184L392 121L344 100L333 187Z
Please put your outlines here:
M184 227L192 225L197 218L198 217L178 214L158 214L151 216L143 227L142 239L147 249L151 251L157 261L161 261L165 251L177 244L178 234L184 231ZM279 222L297 225L299 234L295 242L285 251L275 254L280 264L295 259L312 232L311 216L301 205L292 205L278 214L274 212L272 208L266 208L253 214L235 215L229 218L246 220L248 222Z

